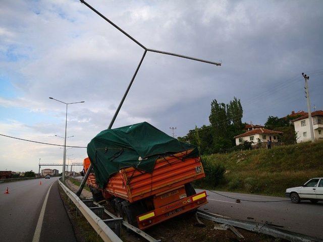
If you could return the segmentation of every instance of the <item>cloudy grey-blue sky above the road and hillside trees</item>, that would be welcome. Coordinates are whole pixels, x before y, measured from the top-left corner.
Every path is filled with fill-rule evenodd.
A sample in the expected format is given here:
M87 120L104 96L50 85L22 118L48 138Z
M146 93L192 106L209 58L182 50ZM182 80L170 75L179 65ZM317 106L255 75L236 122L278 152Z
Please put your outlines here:
M107 128L143 49L76 0L1 1L0 134L86 146ZM185 135L207 125L210 102L241 99L243 121L323 109L322 1L107 1L88 3L148 48L114 127L147 121ZM0 170L62 163L63 150L0 137ZM68 150L82 162L85 149ZM51 167L54 168L54 167ZM57 167L56 167L57 168ZM61 170L61 168L60 168Z

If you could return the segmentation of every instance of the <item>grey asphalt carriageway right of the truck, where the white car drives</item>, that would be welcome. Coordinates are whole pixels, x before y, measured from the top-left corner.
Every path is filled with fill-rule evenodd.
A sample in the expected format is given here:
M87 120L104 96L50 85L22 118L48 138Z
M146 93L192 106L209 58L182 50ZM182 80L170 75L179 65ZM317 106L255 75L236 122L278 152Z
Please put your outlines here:
M196 192L199 191L203 190L196 189ZM200 208L206 212L241 220L269 222L284 226L282 229L323 239L323 202L312 204L309 201L302 201L300 204L294 204L287 198L218 192L237 199L259 201L236 203L233 199L209 191L206 193L208 204ZM278 200L284 202L260 202Z

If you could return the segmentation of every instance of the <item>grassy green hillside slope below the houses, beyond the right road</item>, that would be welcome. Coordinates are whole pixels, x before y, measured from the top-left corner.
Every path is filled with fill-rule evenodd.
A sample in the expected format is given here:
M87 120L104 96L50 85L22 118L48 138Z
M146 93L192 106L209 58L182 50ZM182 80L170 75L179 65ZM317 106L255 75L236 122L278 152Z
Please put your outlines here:
M208 177L196 185L284 196L286 188L323 176L323 142L212 154L203 156L202 160ZM224 173L222 178L221 173Z

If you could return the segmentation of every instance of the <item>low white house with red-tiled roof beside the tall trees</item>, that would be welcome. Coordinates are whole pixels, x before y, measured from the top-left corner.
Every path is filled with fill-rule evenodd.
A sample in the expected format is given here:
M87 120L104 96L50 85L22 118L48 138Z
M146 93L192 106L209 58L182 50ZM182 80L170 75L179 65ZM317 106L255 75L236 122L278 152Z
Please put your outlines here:
M272 141L273 143L278 142L278 135L283 134L279 131L267 130L264 128L253 129L241 135L237 135L234 138L236 139L236 145L243 144L244 141L253 142L254 145L258 143L258 139L261 143L267 142L267 140Z

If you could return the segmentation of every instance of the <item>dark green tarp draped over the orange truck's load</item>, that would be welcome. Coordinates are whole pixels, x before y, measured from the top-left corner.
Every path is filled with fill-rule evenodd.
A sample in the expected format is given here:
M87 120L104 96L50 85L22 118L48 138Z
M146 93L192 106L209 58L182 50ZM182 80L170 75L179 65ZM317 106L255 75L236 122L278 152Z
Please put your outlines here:
M188 156L198 156L194 145L180 142L143 122L103 130L87 145L87 154L94 168L96 182L100 188L104 188L109 177L122 168L132 166L151 173L158 157L192 148L194 150Z

